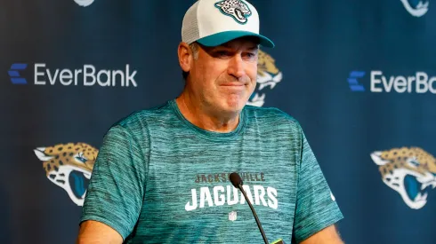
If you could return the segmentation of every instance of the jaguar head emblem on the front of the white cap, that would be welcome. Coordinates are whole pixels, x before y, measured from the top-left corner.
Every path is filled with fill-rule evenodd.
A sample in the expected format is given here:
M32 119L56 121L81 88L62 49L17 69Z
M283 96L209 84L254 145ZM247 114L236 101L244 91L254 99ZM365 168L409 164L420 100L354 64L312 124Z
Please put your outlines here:
M251 15L248 5L240 0L224 0L215 4L222 14L228 15L240 24L246 24Z

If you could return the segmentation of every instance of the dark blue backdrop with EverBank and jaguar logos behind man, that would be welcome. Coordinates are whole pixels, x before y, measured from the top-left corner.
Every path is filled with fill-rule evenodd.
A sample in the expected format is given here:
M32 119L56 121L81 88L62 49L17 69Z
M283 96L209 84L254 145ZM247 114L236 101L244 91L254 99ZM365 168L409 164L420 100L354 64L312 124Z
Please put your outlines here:
M1 1L1 243L74 243L104 133L182 91L193 3ZM343 240L436 243L436 3L251 3L276 48L249 104L301 122Z

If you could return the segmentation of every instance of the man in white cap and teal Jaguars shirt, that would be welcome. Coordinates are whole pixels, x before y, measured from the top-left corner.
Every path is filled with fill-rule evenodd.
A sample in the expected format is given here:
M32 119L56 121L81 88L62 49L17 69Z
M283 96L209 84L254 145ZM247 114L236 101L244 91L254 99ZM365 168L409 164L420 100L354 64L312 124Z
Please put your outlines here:
M342 243L334 224L343 216L299 123L246 106L259 44L274 46L246 1L190 7L178 48L185 88L105 135L78 243L262 243L231 172L269 241Z

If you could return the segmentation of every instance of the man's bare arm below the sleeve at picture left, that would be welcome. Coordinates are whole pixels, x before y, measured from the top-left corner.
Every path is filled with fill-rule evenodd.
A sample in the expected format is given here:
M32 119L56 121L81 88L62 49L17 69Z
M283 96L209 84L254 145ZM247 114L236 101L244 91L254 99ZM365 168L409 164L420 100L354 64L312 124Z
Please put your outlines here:
M123 238L114 229L98 221L87 220L80 224L77 244L121 244Z

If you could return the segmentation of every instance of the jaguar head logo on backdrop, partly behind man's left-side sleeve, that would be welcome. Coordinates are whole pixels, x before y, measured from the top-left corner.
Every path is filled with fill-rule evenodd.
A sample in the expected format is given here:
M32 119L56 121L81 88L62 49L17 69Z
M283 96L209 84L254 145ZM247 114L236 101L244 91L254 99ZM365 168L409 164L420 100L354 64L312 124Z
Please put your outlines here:
M34 152L43 161L46 177L64 189L77 206L83 206L99 151L85 143L68 143L38 147Z

